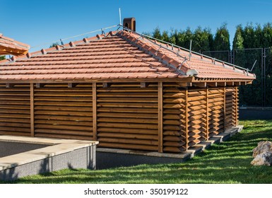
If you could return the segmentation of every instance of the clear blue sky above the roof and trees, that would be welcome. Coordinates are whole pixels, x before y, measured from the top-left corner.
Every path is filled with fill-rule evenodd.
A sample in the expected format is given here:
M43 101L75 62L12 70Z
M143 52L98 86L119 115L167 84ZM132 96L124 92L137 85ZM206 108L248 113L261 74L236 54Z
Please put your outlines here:
M136 18L139 33L152 32L156 27L194 30L199 25L215 33L226 22L232 40L238 24L272 22L272 1L268 0L0 0L0 33L32 47L49 43L30 50L37 51L59 38L117 25L119 8L122 18Z

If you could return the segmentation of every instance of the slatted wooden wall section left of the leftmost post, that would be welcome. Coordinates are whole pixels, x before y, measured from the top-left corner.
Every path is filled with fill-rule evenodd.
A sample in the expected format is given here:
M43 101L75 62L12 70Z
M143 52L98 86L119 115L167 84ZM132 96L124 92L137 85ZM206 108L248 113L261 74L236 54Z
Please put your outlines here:
M0 84L0 134L31 135L29 84Z

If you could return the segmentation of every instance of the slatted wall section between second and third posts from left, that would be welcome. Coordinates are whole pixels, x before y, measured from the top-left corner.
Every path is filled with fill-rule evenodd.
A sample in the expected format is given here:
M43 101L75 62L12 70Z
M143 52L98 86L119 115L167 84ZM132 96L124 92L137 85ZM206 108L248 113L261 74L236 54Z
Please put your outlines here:
M158 151L158 83L97 83L100 147Z

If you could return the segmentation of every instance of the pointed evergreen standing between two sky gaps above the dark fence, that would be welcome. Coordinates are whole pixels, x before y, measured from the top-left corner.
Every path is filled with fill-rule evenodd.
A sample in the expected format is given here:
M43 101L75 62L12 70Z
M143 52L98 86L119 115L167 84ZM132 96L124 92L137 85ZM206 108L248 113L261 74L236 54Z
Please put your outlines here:
M213 45L216 51L230 51L230 33L227 30L227 23L223 23L223 25L216 30Z

